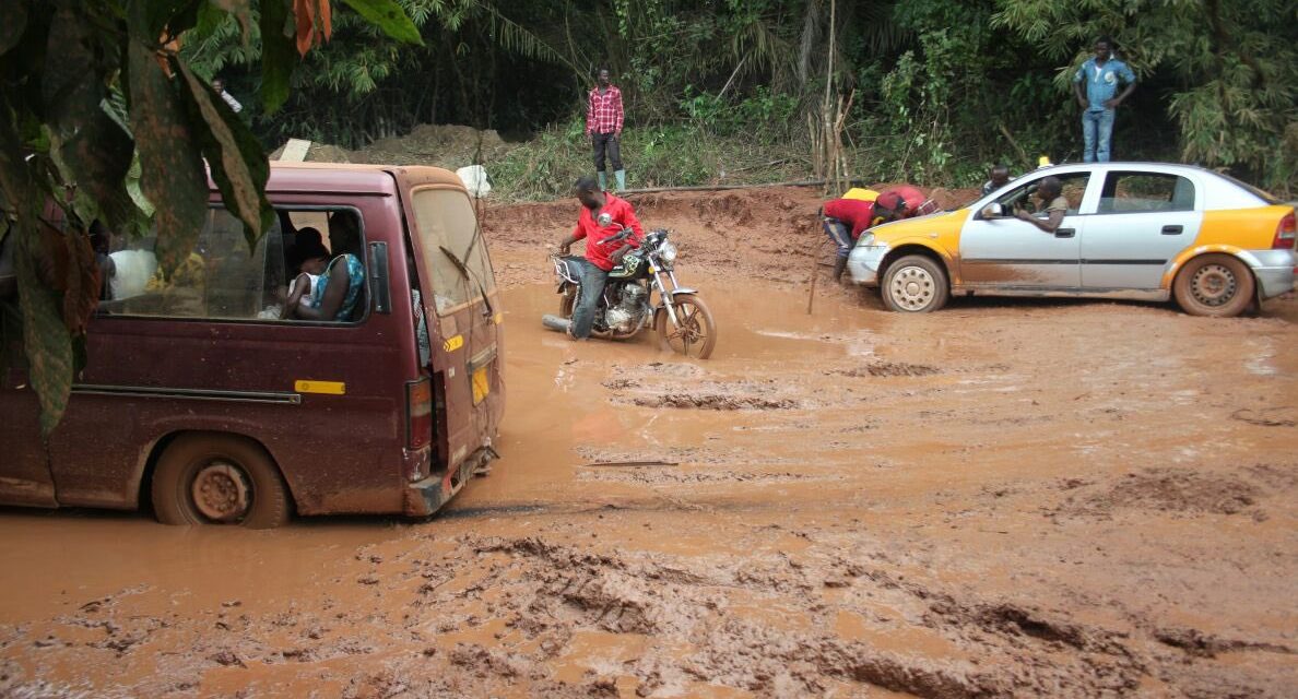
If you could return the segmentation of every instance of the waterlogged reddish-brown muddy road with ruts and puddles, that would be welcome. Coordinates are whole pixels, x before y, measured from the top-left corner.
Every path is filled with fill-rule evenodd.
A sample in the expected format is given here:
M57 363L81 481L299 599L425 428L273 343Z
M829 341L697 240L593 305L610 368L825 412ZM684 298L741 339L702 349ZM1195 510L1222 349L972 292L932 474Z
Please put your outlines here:
M491 210L491 476L426 523L3 510L0 695L1293 694L1298 301L809 315L810 193L637 204L711 361L543 331L571 206Z

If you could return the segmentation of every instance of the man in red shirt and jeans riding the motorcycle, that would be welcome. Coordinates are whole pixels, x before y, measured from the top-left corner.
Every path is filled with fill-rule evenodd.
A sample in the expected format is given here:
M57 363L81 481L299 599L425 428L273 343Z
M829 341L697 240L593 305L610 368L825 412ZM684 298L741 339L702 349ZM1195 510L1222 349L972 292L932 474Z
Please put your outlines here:
M559 241L559 254L569 254L574 243L585 240L582 293L576 307L572 309L572 323L569 326L569 336L574 340L585 340L591 336L594 311L600 306L600 297L604 296L609 272L617 267L627 250L640 246L644 228L631 202L602 191L594 178L584 176L576 180L574 189L574 195L582 202L582 213L578 215L572 235ZM607 240L620 233L623 228L631 228L635 233L620 241Z

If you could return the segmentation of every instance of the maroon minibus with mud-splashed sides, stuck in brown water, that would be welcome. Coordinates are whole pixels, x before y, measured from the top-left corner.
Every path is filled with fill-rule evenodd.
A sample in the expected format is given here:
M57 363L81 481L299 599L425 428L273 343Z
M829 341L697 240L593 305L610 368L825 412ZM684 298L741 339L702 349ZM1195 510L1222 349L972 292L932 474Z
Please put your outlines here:
M502 314L458 178L275 163L267 196L278 220L251 255L213 188L180 270L114 285L48 442L26 371L3 377L0 503L248 527L293 511L422 516L495 456ZM363 283L347 318L282 319L309 228L328 231L331 254L352 231ZM113 253L117 275L151 246Z

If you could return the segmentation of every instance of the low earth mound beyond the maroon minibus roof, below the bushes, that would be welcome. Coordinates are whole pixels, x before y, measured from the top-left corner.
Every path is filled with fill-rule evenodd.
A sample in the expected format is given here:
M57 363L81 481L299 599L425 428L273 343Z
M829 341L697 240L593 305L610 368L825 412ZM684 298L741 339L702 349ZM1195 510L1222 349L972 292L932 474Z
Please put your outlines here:
M501 157L509 147L493 130L471 126L421 124L405 136L379 139L350 153L352 162L435 165L454 170Z

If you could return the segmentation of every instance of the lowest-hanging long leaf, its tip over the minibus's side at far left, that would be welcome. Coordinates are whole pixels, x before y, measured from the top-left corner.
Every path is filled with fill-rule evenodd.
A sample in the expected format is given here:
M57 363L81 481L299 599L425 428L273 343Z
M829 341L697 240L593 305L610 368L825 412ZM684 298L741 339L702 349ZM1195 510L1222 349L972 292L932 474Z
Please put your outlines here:
M27 375L40 402L40 431L48 437L67 410L73 386L73 345L64 326L62 305L55 292L45 288L36 274L34 255L38 232L30 224L19 228L16 262L18 272L18 307L22 310L23 349Z

